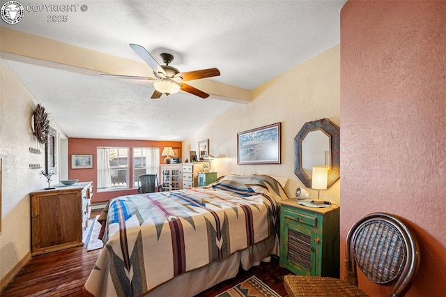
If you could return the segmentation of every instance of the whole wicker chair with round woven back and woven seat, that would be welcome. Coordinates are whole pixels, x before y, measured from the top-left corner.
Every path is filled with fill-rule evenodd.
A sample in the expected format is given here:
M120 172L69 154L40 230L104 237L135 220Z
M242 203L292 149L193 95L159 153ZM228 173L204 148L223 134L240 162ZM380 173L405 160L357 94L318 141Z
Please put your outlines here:
M377 284L393 285L390 296L403 296L420 264L418 243L393 215L371 213L351 227L346 238L345 279L286 275L289 296L367 296L357 287L357 266Z

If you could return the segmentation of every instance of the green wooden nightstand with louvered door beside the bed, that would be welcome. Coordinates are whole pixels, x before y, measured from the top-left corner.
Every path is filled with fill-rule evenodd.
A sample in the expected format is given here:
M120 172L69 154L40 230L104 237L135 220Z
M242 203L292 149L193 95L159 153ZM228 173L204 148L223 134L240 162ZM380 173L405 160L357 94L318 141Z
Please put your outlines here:
M339 206L280 202L279 264L296 275L339 278Z

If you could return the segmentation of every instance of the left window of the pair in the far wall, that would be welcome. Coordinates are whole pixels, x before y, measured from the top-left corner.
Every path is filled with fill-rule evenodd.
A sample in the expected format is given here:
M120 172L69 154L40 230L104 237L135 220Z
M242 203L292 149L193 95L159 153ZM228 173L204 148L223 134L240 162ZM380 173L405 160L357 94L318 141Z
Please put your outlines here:
M129 188L129 148L98 147L98 191Z

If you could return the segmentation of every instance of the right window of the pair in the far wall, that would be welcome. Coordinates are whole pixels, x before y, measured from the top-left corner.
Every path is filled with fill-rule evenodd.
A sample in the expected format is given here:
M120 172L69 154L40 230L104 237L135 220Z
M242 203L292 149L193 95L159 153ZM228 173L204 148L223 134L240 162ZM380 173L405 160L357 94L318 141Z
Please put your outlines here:
M160 172L160 148L133 148L133 187L138 188L138 176Z

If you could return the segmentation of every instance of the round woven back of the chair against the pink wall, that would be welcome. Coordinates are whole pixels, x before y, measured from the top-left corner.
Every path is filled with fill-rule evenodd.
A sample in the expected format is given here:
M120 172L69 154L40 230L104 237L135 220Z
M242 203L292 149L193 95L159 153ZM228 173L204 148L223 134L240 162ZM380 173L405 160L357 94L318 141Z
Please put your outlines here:
M394 285L392 296L403 296L417 275L419 255L415 236L401 220L371 213L348 232L346 280L357 285L357 266L372 282Z

